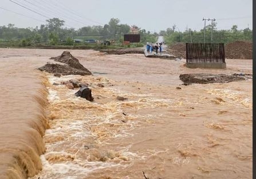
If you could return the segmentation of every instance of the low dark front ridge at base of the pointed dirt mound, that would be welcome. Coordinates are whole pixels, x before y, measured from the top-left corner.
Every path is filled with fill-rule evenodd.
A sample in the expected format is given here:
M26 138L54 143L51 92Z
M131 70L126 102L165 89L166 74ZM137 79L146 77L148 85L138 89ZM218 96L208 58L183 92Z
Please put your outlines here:
M44 66L39 67L38 70L46 71L52 74L59 73L61 75L91 75L89 71L78 70L66 64L46 63Z

